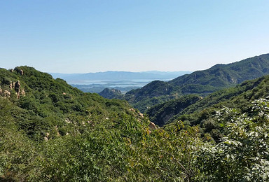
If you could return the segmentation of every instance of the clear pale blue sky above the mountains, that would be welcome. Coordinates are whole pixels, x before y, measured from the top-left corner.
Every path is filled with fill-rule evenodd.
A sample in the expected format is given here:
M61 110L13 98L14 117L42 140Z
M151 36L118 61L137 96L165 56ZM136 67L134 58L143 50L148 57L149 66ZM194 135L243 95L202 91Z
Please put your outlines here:
M268 0L2 0L0 67L196 71L269 53Z

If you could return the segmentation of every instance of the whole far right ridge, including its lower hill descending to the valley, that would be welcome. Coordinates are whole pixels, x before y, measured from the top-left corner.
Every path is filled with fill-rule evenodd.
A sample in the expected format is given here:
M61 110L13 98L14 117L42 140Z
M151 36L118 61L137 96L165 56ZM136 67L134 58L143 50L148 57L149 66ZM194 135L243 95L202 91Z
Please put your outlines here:
M176 99L180 95L199 94L205 97L217 90L233 87L244 80L259 78L267 74L269 74L269 54L231 64L216 64L210 69L179 76L166 83L154 81L141 89L127 92L124 99L139 111L144 112L155 104ZM160 92L160 90L165 90L165 92ZM155 102L151 102L152 99Z

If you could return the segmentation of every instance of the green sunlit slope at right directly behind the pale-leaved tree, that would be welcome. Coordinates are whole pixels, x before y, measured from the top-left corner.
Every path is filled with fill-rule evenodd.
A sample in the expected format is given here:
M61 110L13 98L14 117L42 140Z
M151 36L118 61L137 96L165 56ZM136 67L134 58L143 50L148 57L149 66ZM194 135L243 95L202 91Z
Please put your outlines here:
M255 80L247 80L236 87L219 90L195 102L195 104L182 109L177 115L171 117L167 123L174 125L173 123L177 123L181 120L186 125L199 125L202 135L208 133L214 140L218 141L222 129L219 123L212 119L216 116L216 111L226 106L228 108L237 109L238 112L240 111L242 113L251 112L251 102L255 99L267 98L269 96L268 83L269 76L263 76ZM173 101L170 102L173 103ZM158 111L160 113L158 113ZM158 115L162 115L165 111L165 107L160 108L158 111ZM153 119L154 116L155 115L150 115L150 118ZM154 120L152 121L154 122Z

